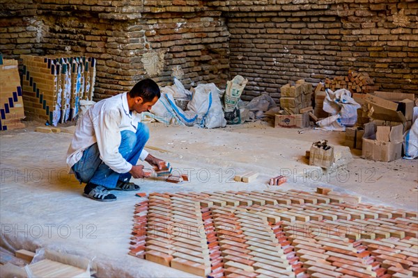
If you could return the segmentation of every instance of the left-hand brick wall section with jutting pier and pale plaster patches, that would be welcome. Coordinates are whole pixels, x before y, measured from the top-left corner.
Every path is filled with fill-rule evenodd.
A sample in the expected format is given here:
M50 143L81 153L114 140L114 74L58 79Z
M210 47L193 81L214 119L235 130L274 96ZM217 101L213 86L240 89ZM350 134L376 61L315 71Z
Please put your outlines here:
M146 77L167 85L177 76L186 87L229 79L229 32L221 12L203 1L8 1L2 35L20 36L17 28L28 19L42 28L34 34L38 44L1 41L6 58L28 51L97 58L95 99L130 90ZM13 6L16 1L24 4ZM26 19L22 13L28 6L32 12Z

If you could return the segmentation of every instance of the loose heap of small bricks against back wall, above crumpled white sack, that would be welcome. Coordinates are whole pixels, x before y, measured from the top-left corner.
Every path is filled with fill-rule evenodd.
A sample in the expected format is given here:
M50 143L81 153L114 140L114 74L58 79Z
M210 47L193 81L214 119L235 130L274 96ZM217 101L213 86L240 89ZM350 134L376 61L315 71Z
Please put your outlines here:
M367 93L379 90L373 79L366 72L348 71L348 76L336 76L334 79L325 79L325 88L331 90L347 89L351 93Z

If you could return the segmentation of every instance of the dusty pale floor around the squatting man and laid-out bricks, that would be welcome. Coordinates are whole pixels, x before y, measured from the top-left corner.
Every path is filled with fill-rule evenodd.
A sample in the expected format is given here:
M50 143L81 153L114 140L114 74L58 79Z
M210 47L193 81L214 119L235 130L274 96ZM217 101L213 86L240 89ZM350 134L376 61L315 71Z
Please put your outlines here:
M161 180L137 180L141 192L260 190L268 179L288 175L277 189L314 190L329 186L363 196L363 202L417 210L418 161L379 163L359 158L347 170L308 179L304 172L320 171L307 165L305 151L312 142L327 139L343 145L345 134L304 129L274 129L251 123L226 129L195 129L149 124L148 149L190 181L174 185ZM70 133L36 133L33 126L0 133L1 245L26 250L47 247L94 259L99 277L190 277L127 255L134 193L116 191L117 202L102 203L82 197L83 186L69 176L65 153ZM155 148L164 149L156 151ZM343 149L343 147L338 147ZM256 171L253 183L231 181L235 173Z

